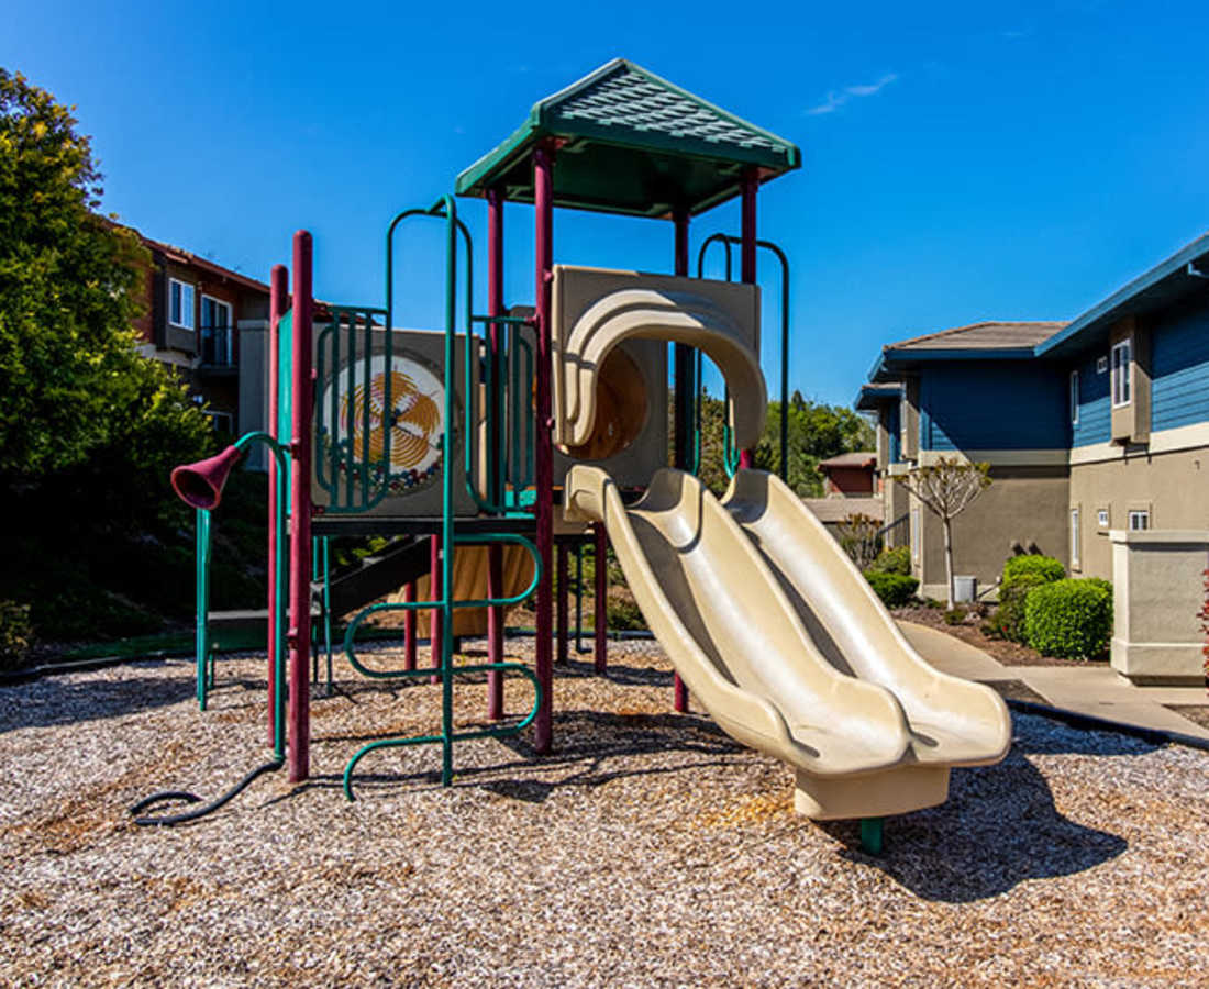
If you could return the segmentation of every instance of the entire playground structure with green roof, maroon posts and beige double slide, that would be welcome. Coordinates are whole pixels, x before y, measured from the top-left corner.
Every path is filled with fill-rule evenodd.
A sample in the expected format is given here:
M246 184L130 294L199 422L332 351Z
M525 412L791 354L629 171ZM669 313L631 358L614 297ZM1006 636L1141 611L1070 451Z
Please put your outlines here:
M752 467L768 405L760 250L780 261L782 276L782 464L789 342L788 261L757 237L757 193L799 161L792 144L615 59L540 100L517 132L458 177L457 195L487 201L485 313L474 310L472 238L452 195L392 220L384 306L328 306L322 325L312 242L300 231L293 297L285 270L272 273L270 430L173 475L198 510L199 699L210 677L209 513L243 447L264 443L273 451L268 729L274 762L288 759L291 781L310 773L312 540L339 534L429 540L428 597L417 594L421 544L412 543L406 600L361 608L343 649L365 676L441 684L440 730L352 753L349 798L360 760L391 747L440 745L445 785L455 746L467 739L532 724L537 753L550 751L554 649L567 641L565 596L555 635L550 574L556 568L565 588L567 545L585 539L597 551L597 670L606 664L601 578L612 540L676 667L676 709L687 710L692 690L728 734L793 767L803 814L867 819L867 844L877 846L881 816L945 799L950 767L1002 758L1010 722L999 696L930 667L809 510L775 475ZM690 218L735 196L740 235L708 237L698 277L689 277ZM534 208L532 307L504 305L505 202ZM670 220L672 274L555 265L555 207ZM445 325L435 332L397 329L404 314L394 290L397 242L421 221L445 231ZM725 280L701 277L713 244L724 250ZM731 486L722 501L695 476L702 354L727 383ZM486 586L459 597L456 556L472 546L486 548ZM522 576L508 585L505 553L532 560L530 568L510 567ZM530 669L503 660L503 611L534 591ZM416 664L422 609L432 615L433 666L424 670ZM485 664L455 664L455 615L463 609L487 615ZM386 611L406 614L398 670L369 667L357 654L359 629ZM456 731L453 678L470 673L487 676L492 723ZM534 688L530 711L511 722L502 721L505 673Z

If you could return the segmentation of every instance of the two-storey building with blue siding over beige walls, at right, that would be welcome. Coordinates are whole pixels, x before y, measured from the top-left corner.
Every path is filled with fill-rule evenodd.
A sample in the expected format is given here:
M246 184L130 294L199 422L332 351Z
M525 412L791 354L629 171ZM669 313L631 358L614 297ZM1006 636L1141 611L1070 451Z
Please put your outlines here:
M1209 236L1069 323L887 345L857 407L878 416L886 522L909 517L931 596L945 586L941 526L895 478L942 457L990 464L954 531L958 572L984 585L1016 551L1111 577L1112 530L1209 530Z

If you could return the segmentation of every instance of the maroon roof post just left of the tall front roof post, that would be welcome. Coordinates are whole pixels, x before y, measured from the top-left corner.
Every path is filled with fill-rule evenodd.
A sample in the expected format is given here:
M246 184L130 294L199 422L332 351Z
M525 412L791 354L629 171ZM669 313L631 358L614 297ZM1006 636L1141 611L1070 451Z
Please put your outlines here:
M498 189L487 190L487 314L504 313L504 197ZM487 326L487 346L491 358L487 374L491 380L488 389L494 397L487 415L487 465L490 499L499 504L503 491L499 484L499 465L503 461L502 447L502 375L499 374L499 324ZM502 597L504 592L504 548L498 543L487 546L487 597ZM502 663L504 659L504 609L492 605L487 608L487 663ZM487 671L487 718L498 721L504 716L504 677L498 670Z

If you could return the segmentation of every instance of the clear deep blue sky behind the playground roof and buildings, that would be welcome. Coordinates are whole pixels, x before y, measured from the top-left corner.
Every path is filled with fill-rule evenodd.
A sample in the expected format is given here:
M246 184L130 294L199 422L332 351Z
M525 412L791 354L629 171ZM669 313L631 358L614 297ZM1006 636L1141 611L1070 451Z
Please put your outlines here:
M1209 229L1197 5L5 7L0 64L77 105L109 210L259 278L307 227L317 293L361 303L381 303L394 210L631 58L802 148L759 229L793 265L791 387L826 401L851 401L885 342L1074 317ZM481 203L462 208L484 244ZM717 230L737 232L733 204L695 221L694 254ZM528 302L530 208L507 237L508 301ZM409 241L409 325L435 320L435 248ZM559 261L663 271L671 253L665 222L556 218Z

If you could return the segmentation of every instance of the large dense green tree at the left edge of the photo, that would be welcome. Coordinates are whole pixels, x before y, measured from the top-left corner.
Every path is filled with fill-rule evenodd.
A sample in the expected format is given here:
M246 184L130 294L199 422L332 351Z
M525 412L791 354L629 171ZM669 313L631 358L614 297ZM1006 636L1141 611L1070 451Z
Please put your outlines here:
M187 582L187 559L180 582L149 567L189 540L168 468L214 443L135 351L147 256L96 212L100 181L69 109L0 68L0 538L24 561L0 598L31 603L42 635L59 631L48 615L126 614L134 592Z

